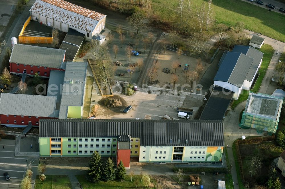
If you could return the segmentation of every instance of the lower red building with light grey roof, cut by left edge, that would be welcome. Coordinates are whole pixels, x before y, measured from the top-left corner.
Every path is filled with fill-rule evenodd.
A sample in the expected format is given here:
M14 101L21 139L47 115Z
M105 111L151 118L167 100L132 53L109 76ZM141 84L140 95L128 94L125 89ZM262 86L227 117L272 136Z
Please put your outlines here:
M58 118L59 113L56 96L2 93L0 107L0 124L10 127L38 126L40 119Z

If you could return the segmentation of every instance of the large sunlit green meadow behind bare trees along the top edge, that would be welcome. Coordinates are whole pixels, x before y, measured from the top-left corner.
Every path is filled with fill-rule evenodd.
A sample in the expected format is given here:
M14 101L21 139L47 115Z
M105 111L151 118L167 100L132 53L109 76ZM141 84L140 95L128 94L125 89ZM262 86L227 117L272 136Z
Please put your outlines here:
M200 6L206 0L193 0L192 10L196 13L196 7ZM176 13L178 0L152 0L152 10L164 22L177 22L178 14ZM217 23L224 23L233 26L237 22L244 22L245 28L257 33L262 33L268 37L285 41L285 27L281 27L281 23L285 23L283 14L268 11L262 7L258 7L255 3L247 3L236 0L215 0L213 1L213 11Z

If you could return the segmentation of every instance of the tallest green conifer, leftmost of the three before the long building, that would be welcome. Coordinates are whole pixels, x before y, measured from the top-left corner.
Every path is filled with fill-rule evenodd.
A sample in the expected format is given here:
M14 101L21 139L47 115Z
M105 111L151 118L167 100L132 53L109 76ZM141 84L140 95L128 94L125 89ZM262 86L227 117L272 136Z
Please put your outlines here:
M94 151L92 154L92 159L89 161L88 165L89 169L87 170L86 179L89 182L97 182L102 177L102 164L101 164L101 156L98 152Z

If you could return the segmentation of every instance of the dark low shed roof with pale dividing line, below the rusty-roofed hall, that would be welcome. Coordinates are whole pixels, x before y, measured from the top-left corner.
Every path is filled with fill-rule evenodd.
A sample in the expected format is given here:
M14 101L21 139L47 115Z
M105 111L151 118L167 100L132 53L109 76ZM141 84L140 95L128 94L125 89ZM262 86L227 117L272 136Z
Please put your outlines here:
M69 28L59 49L65 50L65 61L72 62L84 39L84 34Z

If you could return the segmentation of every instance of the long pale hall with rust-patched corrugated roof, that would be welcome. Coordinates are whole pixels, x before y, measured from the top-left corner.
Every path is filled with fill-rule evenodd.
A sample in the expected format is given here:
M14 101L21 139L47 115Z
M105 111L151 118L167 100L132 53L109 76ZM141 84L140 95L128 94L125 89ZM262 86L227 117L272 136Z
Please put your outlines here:
M106 15L63 0L36 0L30 9L32 20L68 32L72 28L87 41L105 28Z

